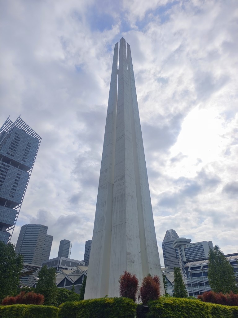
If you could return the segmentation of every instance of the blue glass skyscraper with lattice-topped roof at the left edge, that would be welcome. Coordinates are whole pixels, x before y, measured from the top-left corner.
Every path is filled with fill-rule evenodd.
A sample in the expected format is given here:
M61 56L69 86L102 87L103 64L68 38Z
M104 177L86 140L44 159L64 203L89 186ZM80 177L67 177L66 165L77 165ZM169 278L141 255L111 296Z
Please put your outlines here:
M0 129L0 240L10 242L41 137L20 117Z

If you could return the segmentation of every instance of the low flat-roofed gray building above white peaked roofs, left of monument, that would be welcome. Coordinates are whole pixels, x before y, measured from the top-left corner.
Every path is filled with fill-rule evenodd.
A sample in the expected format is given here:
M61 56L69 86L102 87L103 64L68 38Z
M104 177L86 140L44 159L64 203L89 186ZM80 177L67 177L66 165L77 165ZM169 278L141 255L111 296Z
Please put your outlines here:
M72 267L84 266L83 260L69 259L67 257L56 257L53 259L46 259L42 262L42 266L46 265L47 268L54 267L56 272L59 272L61 269L70 269Z

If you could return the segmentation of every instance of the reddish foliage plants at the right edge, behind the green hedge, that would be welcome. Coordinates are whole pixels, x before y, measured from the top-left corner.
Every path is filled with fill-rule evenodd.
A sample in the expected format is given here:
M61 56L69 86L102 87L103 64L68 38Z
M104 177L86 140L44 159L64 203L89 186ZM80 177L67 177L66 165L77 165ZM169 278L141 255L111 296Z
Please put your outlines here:
M213 304L226 305L226 306L238 306L238 294L233 292L222 294L215 293L213 291L205 292L197 297L201 301L211 302Z

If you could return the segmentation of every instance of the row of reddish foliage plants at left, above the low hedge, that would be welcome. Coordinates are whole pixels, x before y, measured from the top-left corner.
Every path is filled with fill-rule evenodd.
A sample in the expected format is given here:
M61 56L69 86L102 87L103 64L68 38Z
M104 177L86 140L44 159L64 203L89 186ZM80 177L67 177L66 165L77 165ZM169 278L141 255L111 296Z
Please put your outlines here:
M43 305L45 301L44 295L36 294L34 292L21 292L19 295L13 297L7 296L3 299L2 305L14 305L14 304L24 304L24 305Z

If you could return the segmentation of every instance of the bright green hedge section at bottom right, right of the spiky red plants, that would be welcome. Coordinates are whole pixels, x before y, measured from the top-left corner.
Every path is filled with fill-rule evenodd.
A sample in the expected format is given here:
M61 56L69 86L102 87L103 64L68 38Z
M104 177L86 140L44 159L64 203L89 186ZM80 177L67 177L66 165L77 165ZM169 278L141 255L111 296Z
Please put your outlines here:
M147 318L238 318L238 307L186 298L160 297L149 302Z

